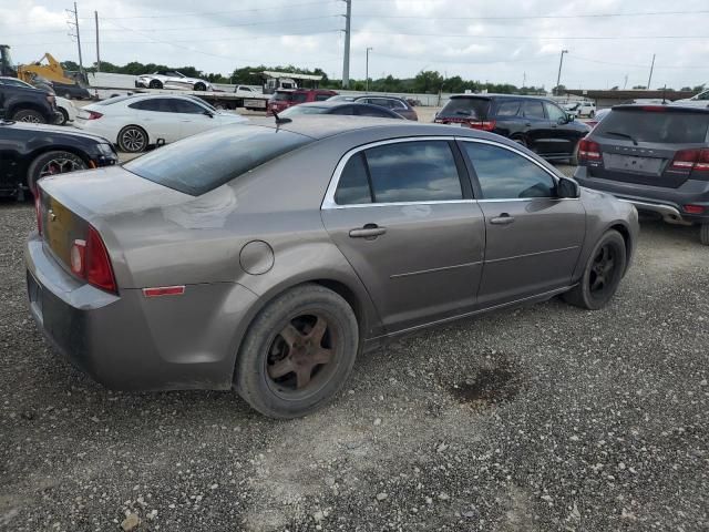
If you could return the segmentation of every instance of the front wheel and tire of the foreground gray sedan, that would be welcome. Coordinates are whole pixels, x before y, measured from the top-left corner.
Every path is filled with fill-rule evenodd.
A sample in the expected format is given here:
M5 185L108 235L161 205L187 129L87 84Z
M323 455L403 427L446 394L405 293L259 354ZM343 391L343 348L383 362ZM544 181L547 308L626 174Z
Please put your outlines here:
M610 264L604 262L608 259ZM562 297L566 303L588 310L605 307L618 289L626 260L625 239L620 233L606 232L594 246L578 285Z

